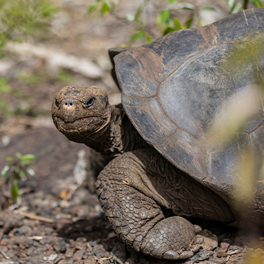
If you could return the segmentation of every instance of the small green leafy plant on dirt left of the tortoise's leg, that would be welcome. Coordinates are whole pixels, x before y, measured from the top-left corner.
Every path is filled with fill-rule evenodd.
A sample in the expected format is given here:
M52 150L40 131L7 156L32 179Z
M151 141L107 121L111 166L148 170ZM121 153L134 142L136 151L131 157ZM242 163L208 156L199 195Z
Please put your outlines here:
M34 170L30 167L35 164L36 156L33 154L22 155L19 152L15 154L16 158L10 156L6 157L6 161L9 161L10 164L3 167L1 171L1 177L6 181L8 185L8 190L12 193L13 202L17 202L17 196L19 194L19 185L18 182L21 179L28 179L31 176L35 176Z

